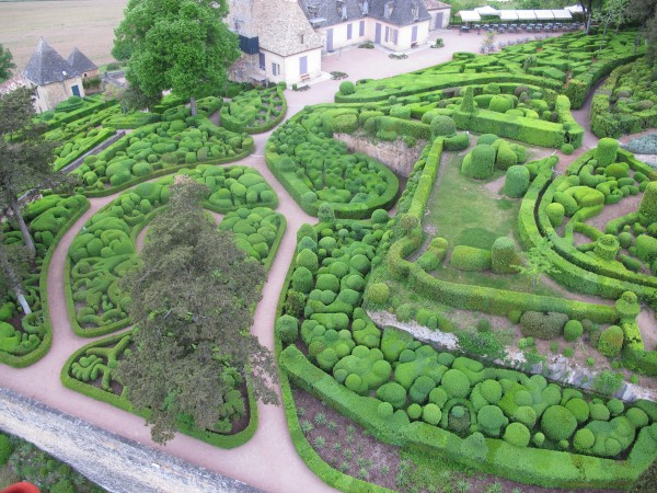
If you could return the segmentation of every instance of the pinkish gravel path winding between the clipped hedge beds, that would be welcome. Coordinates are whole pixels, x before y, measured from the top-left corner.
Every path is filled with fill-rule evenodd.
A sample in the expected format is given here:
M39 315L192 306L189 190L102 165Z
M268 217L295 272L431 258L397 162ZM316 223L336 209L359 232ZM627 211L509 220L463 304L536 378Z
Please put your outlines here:
M341 70L349 73L350 80L382 78L401 72L417 70L451 59L454 51L477 51L482 37L475 34L459 35L458 32L434 32L433 38L442 37L445 48L422 49L410 54L405 60L390 60L388 53L374 49L350 49L327 57L326 71ZM518 38L517 35L503 35L498 41ZM304 105L333 101L339 81L325 81L311 87L308 92L286 91L288 115L291 116ZM586 108L580 112L586 111ZM588 116L588 112L586 113ZM274 347L274 318L278 297L296 251L296 232L304 222L316 219L301 210L283 185L270 173L264 160L264 147L270 133L255 136L256 149L239 164L255 168L274 187L279 198L278 211L287 219L287 230L272 265L268 280L263 288L263 299L254 314L252 331L261 342ZM585 137L585 147L592 142ZM15 369L2 367L0 387L15 390L83 422L97 425L111 433L162 450L185 461L220 474L235 478L255 488L272 492L321 492L331 491L306 466L297 455L288 433L283 406L258 404L260 424L253 438L245 445L224 450L212 447L185 435L177 434L165 447L151 442L150 429L143 420L110 404L90 399L65 388L60 382L60 371L67 358L79 347L90 342L77 336L69 322L64 293L64 265L71 241L84 222L116 195L91 199L90 209L65 234L55 250L48 273L48 303L54 328L54 342L50 352L35 365ZM140 241L141 241L140 237ZM28 404L25 404L28 405ZM0 402L0 409L2 409ZM28 413L26 413L27 415ZM27 417L28 420L28 417ZM1 423L0 423L0 427ZM39 423L33 422L23 437L39 445ZM105 437L105 439L108 439ZM67 457L61 457L67 460ZM108 461L107 461L108 462ZM105 463L104 467L112 467ZM82 471L84 472L84 471ZM115 470L120 473L120 470ZM149 471L152 472L152 471ZM168 491L163 489L162 491Z

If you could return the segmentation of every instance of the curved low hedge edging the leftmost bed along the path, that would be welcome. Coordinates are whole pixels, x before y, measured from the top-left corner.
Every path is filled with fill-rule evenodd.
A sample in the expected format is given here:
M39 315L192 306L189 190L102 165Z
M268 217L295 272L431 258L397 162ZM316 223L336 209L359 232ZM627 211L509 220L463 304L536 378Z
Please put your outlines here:
M48 306L48 271L50 270L50 261L53 260L53 254L57 249L57 245L67 233L67 231L76 223L78 219L80 219L84 213L89 209L90 204L89 200L84 204L83 207L80 207L76 214L73 214L69 220L61 227L55 239L53 240L53 244L48 249L46 256L44 257L44 262L42 263L42 272L38 279L38 288L41 293L42 299L42 313L44 318L44 326L46 329L46 334L42 343L38 347L30 354L24 356L14 356L9 353L0 352L0 363L3 363L9 366L13 366L14 368L25 368L26 366L33 365L43 358L50 346L53 345L53 322L50 321L50 308Z

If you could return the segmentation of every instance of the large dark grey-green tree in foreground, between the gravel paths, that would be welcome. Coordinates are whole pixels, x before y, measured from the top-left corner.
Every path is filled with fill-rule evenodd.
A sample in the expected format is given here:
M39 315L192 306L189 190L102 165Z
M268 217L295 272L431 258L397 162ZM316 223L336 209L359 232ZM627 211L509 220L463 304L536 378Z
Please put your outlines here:
M139 329L117 368L130 402L150 410L159 443L173 437L181 416L200 428L218 423L235 369L251 375L260 400L277 402L274 359L249 331L263 266L232 233L217 231L199 206L205 185L181 177L170 193L170 207L151 222L143 266L123 280Z

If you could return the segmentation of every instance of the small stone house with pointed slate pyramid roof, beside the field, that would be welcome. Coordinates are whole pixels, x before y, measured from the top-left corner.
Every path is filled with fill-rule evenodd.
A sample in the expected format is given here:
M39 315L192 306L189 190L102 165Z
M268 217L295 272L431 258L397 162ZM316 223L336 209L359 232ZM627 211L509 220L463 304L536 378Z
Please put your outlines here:
M39 113L55 108L72 95L84 98L80 72L71 67L44 38L36 45L36 49L23 71L23 77L27 81L27 85L35 89L34 106Z

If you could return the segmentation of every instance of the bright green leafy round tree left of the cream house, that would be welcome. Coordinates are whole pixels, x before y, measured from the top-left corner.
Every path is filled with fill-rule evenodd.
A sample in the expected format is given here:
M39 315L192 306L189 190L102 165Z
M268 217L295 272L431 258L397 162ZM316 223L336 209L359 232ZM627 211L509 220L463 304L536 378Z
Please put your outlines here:
M171 89L195 115L196 99L217 93L240 56L227 15L226 0L130 0L113 54L127 58L127 80L148 98Z

